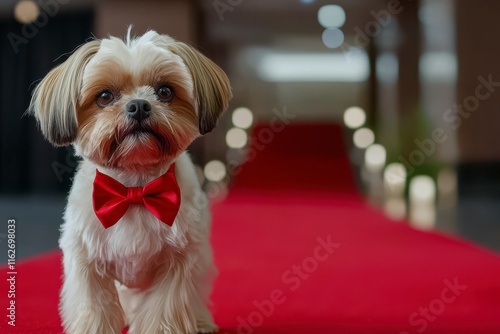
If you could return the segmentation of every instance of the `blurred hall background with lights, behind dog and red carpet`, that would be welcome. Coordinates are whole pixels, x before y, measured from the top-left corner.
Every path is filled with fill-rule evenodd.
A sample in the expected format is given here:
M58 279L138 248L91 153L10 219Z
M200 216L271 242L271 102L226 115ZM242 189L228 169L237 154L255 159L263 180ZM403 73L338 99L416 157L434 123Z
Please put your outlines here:
M35 83L89 38L133 24L196 46L230 77L230 109L190 148L213 200L248 159L255 126L338 124L359 192L395 223L498 251L499 10L494 0L0 0L0 241L15 218L18 257L56 248L78 163L23 117Z

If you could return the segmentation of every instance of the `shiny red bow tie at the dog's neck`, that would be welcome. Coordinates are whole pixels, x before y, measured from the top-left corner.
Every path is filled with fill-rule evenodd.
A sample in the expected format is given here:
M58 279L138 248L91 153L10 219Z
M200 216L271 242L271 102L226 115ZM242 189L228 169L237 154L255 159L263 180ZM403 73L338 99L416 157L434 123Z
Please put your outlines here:
M181 205L181 191L174 174L175 165L144 187L127 188L96 170L92 202L104 228L116 224L130 204L142 204L159 220L172 226Z

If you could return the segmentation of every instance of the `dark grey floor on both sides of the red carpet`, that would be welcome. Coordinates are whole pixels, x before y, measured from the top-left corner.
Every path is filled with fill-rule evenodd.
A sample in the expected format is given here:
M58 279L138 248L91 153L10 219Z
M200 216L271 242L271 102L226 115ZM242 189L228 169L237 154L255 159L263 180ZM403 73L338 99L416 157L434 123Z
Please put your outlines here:
M0 263L7 262L7 221L16 221L16 258L57 248L65 198L0 197ZM462 199L457 208L440 209L436 228L500 252L500 208L494 198Z

